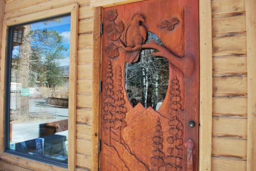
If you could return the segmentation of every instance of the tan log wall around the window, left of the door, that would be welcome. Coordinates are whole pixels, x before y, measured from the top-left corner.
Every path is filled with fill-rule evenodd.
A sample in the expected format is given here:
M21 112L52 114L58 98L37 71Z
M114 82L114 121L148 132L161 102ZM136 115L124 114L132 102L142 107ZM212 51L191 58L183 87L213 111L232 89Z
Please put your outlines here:
M91 125L92 125L92 59L93 59L93 15L90 0L15 0L6 1L4 20L63 7L74 3L79 4L78 22L78 57L77 57L77 125L76 125L76 167L77 170L91 168ZM2 6L0 8L1 22ZM1 23L2 28L2 23ZM2 31L1 31L2 32ZM1 37L1 36L0 36ZM2 39L1 39L2 40ZM1 136L2 137L2 136ZM28 163L18 164L16 161L0 159L0 170L34 170ZM22 167L19 167L19 166ZM26 168L25 168L26 167ZM55 170L56 168L52 168ZM44 168L42 168L44 170ZM48 170L48 169L45 169ZM57 169L58 170L58 169ZM66 170L60 168L59 170ZM38 171L38 170L35 170Z

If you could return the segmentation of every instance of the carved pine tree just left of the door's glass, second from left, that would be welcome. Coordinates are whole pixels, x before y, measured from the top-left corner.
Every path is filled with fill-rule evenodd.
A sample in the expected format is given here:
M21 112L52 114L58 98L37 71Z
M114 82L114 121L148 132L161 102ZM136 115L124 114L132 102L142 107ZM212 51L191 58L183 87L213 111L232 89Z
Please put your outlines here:
M122 69L121 66L118 66L117 69L117 94L115 100L115 112L113 113L112 119L114 120L115 129L119 129L119 142L121 143L121 130L126 127L126 122L124 121L126 108L124 107L123 100L123 87L122 87Z

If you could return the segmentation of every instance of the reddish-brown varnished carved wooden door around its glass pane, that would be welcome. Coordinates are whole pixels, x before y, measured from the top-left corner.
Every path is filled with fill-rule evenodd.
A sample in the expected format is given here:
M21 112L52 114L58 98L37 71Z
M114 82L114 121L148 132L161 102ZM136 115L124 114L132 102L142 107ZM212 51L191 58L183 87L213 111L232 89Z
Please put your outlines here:
M189 9L186 8L188 6ZM129 12L127 12L128 9ZM157 11L160 9L164 12L158 13ZM185 12L183 13L183 11ZM198 11L198 4L195 2L165 0L144 1L103 9L102 151L100 153L102 170L198 169L199 48L195 44L199 44L199 28L195 23L198 23L199 20L196 11ZM136 13L137 15L134 15ZM172 16L179 20L177 28L175 26L172 30L164 30L159 27L159 23L164 20L172 20ZM194 18L193 22L188 19L191 17ZM136 19L138 20L136 21ZM123 26L122 23L120 24L121 21ZM118 25L119 28L116 28L122 34L110 34L111 32L107 30L109 23ZM140 35L129 30L130 28L136 29L136 27L140 29ZM144 44L144 30L159 36L164 47L154 42ZM119 37L121 38L119 39ZM108 47L111 42L118 43L119 48L122 48L123 51L111 52L113 49ZM163 105L158 111L151 107L145 109L140 103L132 107L127 99L124 88L124 63L133 63L138 60L136 54L139 51L135 46L136 43L141 44L142 48L158 50L154 55L164 57L170 62L169 87ZM174 91L179 91L180 94L177 95ZM122 102L121 106L116 106L119 103L114 104L114 102L119 101ZM121 109L122 117L115 119L115 116L119 117L114 111L117 108ZM176 118L174 113L180 113L180 115ZM177 121L180 122L177 126L179 133L173 142L170 139L172 139L172 134L176 136L176 133L172 132L172 129L169 133L167 130L172 128L174 121L172 122L168 118L174 119L174 121L178 119L179 121ZM196 127L188 128L189 120L194 120ZM176 126L173 127L176 129ZM155 131L163 132L163 135L154 137ZM155 138L163 138L163 141L158 142ZM194 146L188 143L185 148L183 143L188 139ZM163 148L157 148L154 143L161 143ZM173 143L176 144L174 147L177 148L177 152L167 150ZM160 154L164 154L165 157L157 158L157 154L152 153L154 149ZM193 153L190 153L191 151Z

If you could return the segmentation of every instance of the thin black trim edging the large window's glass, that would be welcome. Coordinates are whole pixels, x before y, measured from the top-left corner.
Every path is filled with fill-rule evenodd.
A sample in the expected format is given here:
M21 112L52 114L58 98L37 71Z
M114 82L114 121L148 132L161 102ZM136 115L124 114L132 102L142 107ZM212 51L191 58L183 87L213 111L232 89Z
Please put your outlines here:
M13 29L18 26L24 26L24 25L29 25L31 23L36 23L40 21L45 21L49 19L55 19L59 17L65 17L65 16L71 16L71 13L63 14L63 15L58 15L58 16L53 16L53 17L48 17L44 19L39 19L39 20L34 20L31 22L25 22L21 23L19 25L13 25L8 27L8 39L7 39L7 55L6 55L6 91L5 91L5 137L4 137L4 145L5 145L5 153L9 153L12 155L17 155L20 157L44 162L47 164L53 164L56 166L60 166L63 168L68 168L68 163L56 161L56 160L51 160L47 158L42 158L39 156L32 156L29 154L21 153L21 152L16 152L14 150L9 150L10 148L10 85L11 85L11 57L12 57L12 39L13 39ZM69 130L68 130L69 131Z

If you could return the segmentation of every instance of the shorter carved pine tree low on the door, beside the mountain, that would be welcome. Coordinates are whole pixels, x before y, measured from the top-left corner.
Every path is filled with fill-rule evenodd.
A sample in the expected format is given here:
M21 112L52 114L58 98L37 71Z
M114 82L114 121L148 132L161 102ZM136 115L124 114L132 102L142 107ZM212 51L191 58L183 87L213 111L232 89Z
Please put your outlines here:
M162 152L163 149L163 132L161 127L160 118L157 117L156 121L156 132L153 137L153 157L151 157L151 164L156 168L156 171L159 171L159 167L165 165L164 163L164 153Z

